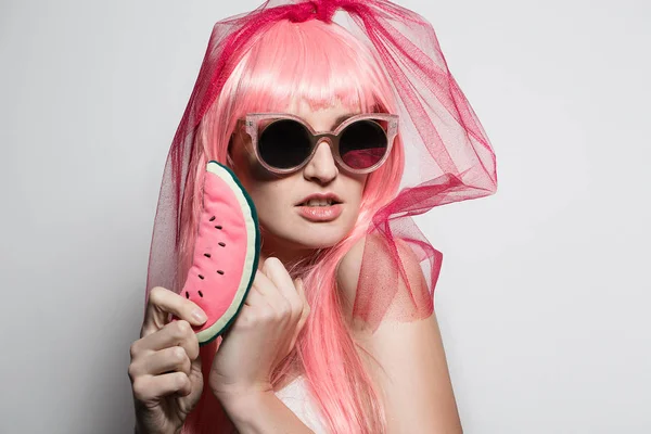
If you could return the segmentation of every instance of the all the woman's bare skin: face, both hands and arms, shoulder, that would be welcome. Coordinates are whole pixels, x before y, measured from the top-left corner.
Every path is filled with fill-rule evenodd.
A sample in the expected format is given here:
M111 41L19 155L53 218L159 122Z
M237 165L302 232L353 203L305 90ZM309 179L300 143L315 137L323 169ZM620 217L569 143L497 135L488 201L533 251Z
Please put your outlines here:
M335 119L354 114L340 105L311 111L301 102L288 112L303 117L317 131L332 130ZM253 197L265 229L263 257L250 295L215 355L209 387L240 433L309 433L276 397L269 381L273 368L293 348L309 315L303 284L292 280L284 264L314 248L333 245L350 231L366 176L340 169L324 142L319 143L314 158L302 170L272 176L256 161L246 138L234 136L230 155L233 170ZM343 201L337 219L310 222L296 213L295 204L306 195L326 191ZM352 317L363 242L350 250L337 271L347 319ZM409 281L424 284L409 248L403 253ZM166 323L167 312L181 320ZM151 292L141 339L131 345L129 366L137 432L178 433L199 401L203 387L201 357L190 323L203 323L201 315L196 305L171 291L156 288ZM387 321L374 333L356 327L352 320L349 327L354 339L370 353L370 357L365 353L360 356L382 391L390 434L461 432L434 314L410 323ZM384 370L378 369L372 359Z

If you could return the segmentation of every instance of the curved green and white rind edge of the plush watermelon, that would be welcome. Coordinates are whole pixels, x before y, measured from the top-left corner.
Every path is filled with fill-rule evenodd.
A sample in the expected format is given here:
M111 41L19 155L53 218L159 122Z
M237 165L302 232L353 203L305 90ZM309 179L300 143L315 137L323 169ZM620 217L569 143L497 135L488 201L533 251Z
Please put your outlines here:
M217 165L217 167L215 167L215 165ZM212 167L217 173L210 170ZM255 279L255 273L258 268L259 252L260 252L260 230L259 230L259 226L258 226L259 220L258 220L257 210L255 209L253 200L251 199L251 196L248 195L248 193L246 192L246 190L244 189L244 187L242 186L242 183L240 182L240 180L238 179L235 174L227 166L222 165L219 162L212 159L206 165L206 170L208 170L213 175L219 176L225 182L230 184L231 190L233 191L233 194L235 195L235 197L238 199L238 202L240 203L240 208L242 209L242 214L244 215L244 220L247 226L247 232L255 233L255 241L254 241L254 245L253 245L253 254L251 252L251 248L246 250L246 260L245 260L244 268L246 268L246 263L250 263L250 261L253 263L252 268L251 268L252 272L248 278L248 282L246 282L246 289L243 292L238 291L238 293L242 293L242 297L239 299L238 298L233 299L231 307L229 308L229 310L232 309L232 306L237 304L238 308L237 308L235 312L231 316L231 318L224 326L220 324L221 321L216 321L215 324L213 324L210 328L202 330L201 332L197 332L196 337L199 340L200 346L207 345L210 342L213 342L214 340L216 340L217 336L221 335L235 321L235 318L238 318L238 315L242 310L242 306L244 306L244 299L246 299L246 296L248 295L248 291L251 290L251 286L253 285L253 280ZM228 175L228 177L224 176L224 175ZM237 187L237 188L233 188L233 187ZM244 199L246 202L244 203L242 201L242 199ZM247 206L244 206L245 204ZM251 212L250 215L247 215L246 209L250 209L250 212ZM253 228L252 228L252 226L253 226ZM251 257L251 256L253 256L253 257ZM242 276L242 278L244 278L244 276ZM242 288L242 286L243 286L243 282L240 281L240 288ZM225 314L225 315L227 315L227 314ZM216 328L219 329L217 332L214 331Z

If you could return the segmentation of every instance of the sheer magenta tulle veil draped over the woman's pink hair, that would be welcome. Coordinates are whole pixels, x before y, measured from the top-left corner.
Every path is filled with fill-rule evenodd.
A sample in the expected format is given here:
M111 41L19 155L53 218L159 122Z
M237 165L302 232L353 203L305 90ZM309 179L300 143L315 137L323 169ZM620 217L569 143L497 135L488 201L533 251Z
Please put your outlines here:
M411 217L435 206L493 194L497 190L496 157L448 68L432 25L387 0L269 0L250 13L215 24L163 175L150 251L148 297L153 286L177 292L182 286L183 276L177 276L181 217L187 212L184 204L191 202L188 197L195 194L190 191L196 188L195 166L203 161L199 157L202 150L196 144L196 131L235 68L233 59L240 59L238 54L250 41L259 40L273 23L317 18L334 24L337 11L345 14L342 23L337 14L336 25L368 47L386 76L400 119L398 136L404 154L395 195L368 218L367 235L371 237L367 240L372 241L367 241L363 251L354 312L373 329L390 311L387 306L395 303L405 304L405 308L393 309L401 312L403 319L413 318L409 311L418 312L418 317L431 312L433 306L424 310L407 306L423 297L412 294L421 290L412 289L414 282L405 271L408 266L404 254L406 248L413 252L409 255L425 276L430 301L442 255Z

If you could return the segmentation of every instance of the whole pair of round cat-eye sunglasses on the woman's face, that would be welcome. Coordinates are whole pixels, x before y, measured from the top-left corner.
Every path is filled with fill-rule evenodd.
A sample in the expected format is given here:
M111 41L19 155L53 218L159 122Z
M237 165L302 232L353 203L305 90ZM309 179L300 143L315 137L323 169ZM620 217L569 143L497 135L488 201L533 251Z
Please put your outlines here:
M279 175L302 169L321 139L345 170L369 174L386 161L398 130L398 115L387 113L354 115L334 131L315 131L301 117L286 113L251 113L239 123L244 123L260 164Z

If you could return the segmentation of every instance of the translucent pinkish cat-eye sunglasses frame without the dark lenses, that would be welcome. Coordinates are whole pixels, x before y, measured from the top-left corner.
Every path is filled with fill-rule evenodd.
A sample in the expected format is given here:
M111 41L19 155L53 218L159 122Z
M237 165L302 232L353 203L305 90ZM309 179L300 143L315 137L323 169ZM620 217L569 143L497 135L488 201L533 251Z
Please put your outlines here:
M258 151L258 145L257 145L257 143L258 143L257 142L258 126L259 126L260 122L268 120L268 119L273 119L273 120L271 123L269 123L268 125L266 125L265 128L267 128L269 125L273 124L277 120L292 119L292 120L296 120L299 124L302 124L310 132L311 136L310 136L309 140L310 140L310 145L311 145L311 153L298 166L290 167L286 169L280 169L278 167L269 166L260 157L260 154ZM355 168L348 166L346 163L344 163L344 161L341 157L340 149L339 149L340 148L340 137L339 136L348 125L350 125L355 122L365 120L365 119L384 120L387 123L386 129L384 129L384 127L381 126L382 130L384 131L384 135L386 136L386 142L387 142L386 152L384 153L384 156L374 165L372 165L368 168L365 168L365 169L355 169ZM317 152L317 148L318 148L317 145L321 139L324 139L328 142L328 144L330 145L332 155L340 167L344 168L346 171L349 171L352 174L357 174L357 175L370 174L371 171L373 171L373 170L378 169L380 166L382 166L384 164L384 162L386 162L386 159L388 158L388 155L391 154L391 150L393 148L393 142L395 140L395 137L398 133L398 115L388 114L388 113L361 113L361 114L353 115L349 118L347 118L346 120L344 120L343 123L341 123L334 131L315 131L311 128L311 126L308 123L306 123L303 118L301 118L296 115L293 115L293 114L289 114L289 113L250 113L246 115L246 117L244 119L238 119L238 123L244 123L245 128L246 128L246 133L251 137L253 149L255 151L255 156L258 159L258 162L267 170L269 170L273 174L278 174L278 175L292 174L292 173L301 170L303 167L305 167L311 161L311 158L315 156L315 153Z

